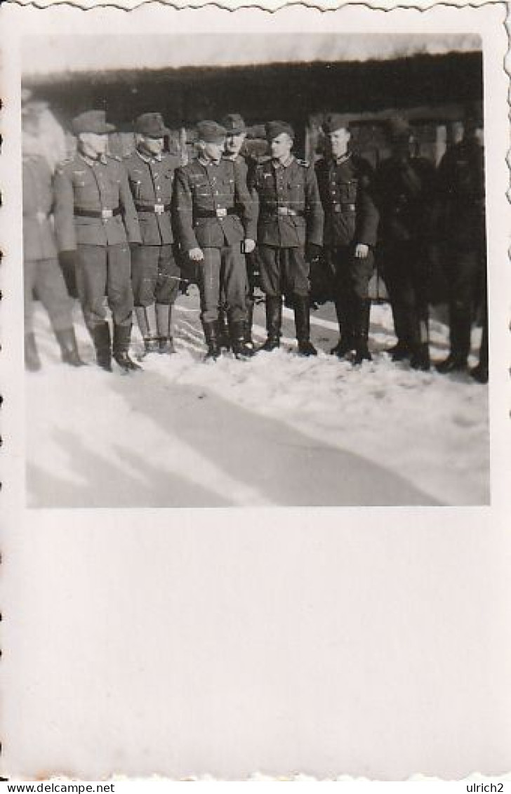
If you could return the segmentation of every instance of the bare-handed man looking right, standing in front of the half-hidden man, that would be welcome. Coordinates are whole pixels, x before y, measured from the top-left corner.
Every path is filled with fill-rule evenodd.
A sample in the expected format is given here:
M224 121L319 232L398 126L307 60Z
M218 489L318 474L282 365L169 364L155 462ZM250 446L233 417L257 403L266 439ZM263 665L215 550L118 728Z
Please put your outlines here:
M208 352L220 353L218 311L225 296L232 351L248 358L245 345L247 272L244 253L255 248L256 206L244 174L222 158L225 127L216 121L197 125L197 160L175 172L173 213L183 252L198 263L201 319Z

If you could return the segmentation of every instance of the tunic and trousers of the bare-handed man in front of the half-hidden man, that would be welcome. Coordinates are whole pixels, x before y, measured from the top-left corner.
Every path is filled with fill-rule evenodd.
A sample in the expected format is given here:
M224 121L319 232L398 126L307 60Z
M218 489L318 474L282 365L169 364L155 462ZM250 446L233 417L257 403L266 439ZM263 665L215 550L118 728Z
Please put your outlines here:
M183 252L200 248L198 263L203 322L216 321L221 287L229 319L246 318L247 274L241 242L255 239L257 206L243 172L233 162L199 158L175 172L173 217Z

